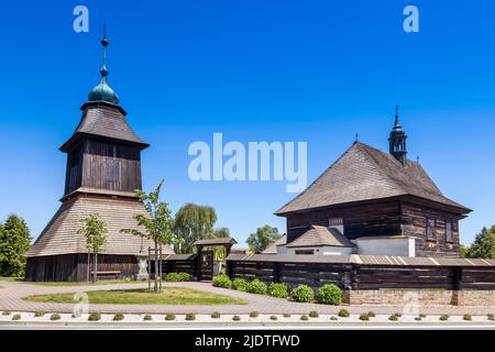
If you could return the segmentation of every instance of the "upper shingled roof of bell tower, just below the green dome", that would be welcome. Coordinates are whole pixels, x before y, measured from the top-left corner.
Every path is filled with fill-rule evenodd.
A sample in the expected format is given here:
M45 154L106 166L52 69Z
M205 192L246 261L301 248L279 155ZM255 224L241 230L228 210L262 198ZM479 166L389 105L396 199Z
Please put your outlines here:
M142 148L150 146L141 140L125 121L125 112L119 106L88 102L82 106L82 118L70 139L61 146L66 152L80 135L95 135L139 144Z

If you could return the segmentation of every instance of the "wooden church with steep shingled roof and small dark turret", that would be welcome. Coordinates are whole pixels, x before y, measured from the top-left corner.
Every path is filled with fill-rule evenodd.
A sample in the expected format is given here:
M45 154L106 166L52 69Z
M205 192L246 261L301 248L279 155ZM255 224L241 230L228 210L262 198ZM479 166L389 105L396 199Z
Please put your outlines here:
M459 256L459 220L471 210L447 198L407 158L396 111L389 152L355 142L275 215L287 219L278 254Z

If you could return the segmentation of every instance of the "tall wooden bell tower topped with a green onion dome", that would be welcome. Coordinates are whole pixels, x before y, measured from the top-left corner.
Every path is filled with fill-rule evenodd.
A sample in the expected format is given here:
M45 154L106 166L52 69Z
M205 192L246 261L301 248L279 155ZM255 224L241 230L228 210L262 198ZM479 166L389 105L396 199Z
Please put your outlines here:
M82 117L75 132L61 146L67 154L62 206L26 254L26 280L87 280L94 268L86 239L76 231L90 213L98 213L107 224L107 243L98 255L101 276L135 275L136 255L147 255L152 245L120 232L136 228L134 215L145 213L134 190L142 187L141 152L150 145L129 127L119 97L107 82L108 44L103 37L101 80L80 108ZM168 248L163 252L173 253Z

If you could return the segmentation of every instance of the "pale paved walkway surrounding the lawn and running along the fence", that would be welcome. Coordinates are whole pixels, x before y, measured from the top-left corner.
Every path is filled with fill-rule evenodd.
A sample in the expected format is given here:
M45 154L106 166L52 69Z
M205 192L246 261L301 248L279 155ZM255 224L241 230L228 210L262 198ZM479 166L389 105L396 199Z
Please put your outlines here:
M0 310L11 311L36 311L46 312L72 312L74 304L50 304L50 302L30 302L22 298L32 295L50 295L59 293L84 293L89 290L110 290L110 289L132 289L147 287L147 284L117 284L117 285L99 285L99 286L43 286L20 282L0 282ZM241 293L232 289L224 289L211 286L210 283L164 283L163 286L168 287L187 287L199 290L211 292L221 295L228 295L246 299L248 305L229 305L229 306L198 306L198 305L91 305L89 302L89 311L98 312L124 312L124 314L204 314L210 315L213 311L220 314L249 314L257 311L260 314L290 314L307 315L311 310L317 310L320 315L334 315L341 308L350 310L352 314L359 315L373 310L376 314L391 315L394 312L406 312L400 306L326 306L317 304L299 304L287 299L274 298L268 296L253 295ZM432 306L420 307L420 314L425 315L450 315L462 316L470 314L473 316L486 316L495 314L495 307L459 307L459 306Z

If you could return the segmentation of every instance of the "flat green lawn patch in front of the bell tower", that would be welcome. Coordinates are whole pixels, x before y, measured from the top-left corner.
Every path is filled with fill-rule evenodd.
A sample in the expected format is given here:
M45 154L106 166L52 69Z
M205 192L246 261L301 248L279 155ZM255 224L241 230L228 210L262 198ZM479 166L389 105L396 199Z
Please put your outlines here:
M163 287L160 294L148 293L147 289L90 290L87 292L89 302L118 305L246 305L241 298L217 295L204 290L183 287ZM24 298L37 302L74 302L74 294L40 295Z

